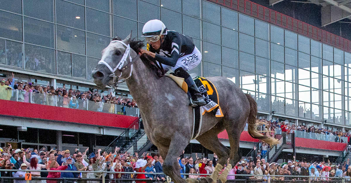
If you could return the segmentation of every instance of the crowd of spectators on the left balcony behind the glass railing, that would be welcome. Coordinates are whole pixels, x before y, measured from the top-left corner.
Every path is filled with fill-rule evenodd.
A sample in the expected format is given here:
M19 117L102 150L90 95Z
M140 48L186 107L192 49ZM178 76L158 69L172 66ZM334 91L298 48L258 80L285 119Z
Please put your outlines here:
M57 106L85 110L87 105L90 111L114 113L114 105L126 107L138 107L135 100L129 98L114 97L112 93L101 96L95 89L79 91L63 87L35 85L30 82L15 82L14 75L11 78L1 80L0 99L15 100L14 91L18 92L18 101L30 102L29 96L32 92L32 103L54 106L54 96L57 96ZM92 102L87 102L87 101ZM125 114L122 108L121 114Z

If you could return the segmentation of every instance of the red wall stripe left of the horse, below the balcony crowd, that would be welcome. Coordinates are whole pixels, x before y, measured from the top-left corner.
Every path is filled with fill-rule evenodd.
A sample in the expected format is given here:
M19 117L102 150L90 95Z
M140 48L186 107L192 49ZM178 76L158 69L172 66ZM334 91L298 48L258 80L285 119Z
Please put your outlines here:
M138 117L0 100L0 115L127 128Z

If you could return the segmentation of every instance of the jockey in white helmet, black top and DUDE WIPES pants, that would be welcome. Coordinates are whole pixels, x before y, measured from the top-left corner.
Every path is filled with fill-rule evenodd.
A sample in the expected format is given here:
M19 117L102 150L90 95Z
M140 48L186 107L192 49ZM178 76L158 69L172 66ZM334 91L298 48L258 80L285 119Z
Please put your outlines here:
M145 23L143 37L146 38L149 49L141 49L140 54L155 58L166 72L172 69L177 76L184 78L188 91L194 98L193 104L206 105L194 80L186 72L199 65L202 57L192 38L174 30L167 30L165 24L156 19Z

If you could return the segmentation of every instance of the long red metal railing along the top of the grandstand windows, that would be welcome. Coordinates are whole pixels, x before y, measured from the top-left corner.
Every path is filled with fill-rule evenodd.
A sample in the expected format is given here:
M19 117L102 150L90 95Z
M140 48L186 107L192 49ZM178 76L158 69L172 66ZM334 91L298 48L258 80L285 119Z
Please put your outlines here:
M282 27L284 29L293 31L300 35L312 38L333 47L342 49L344 51L351 51L351 41L335 34L329 33L323 29L317 28L303 21L294 19L293 17L284 15L270 8L264 7L249 0L207 0L215 2L224 7L236 10L271 23L273 25Z

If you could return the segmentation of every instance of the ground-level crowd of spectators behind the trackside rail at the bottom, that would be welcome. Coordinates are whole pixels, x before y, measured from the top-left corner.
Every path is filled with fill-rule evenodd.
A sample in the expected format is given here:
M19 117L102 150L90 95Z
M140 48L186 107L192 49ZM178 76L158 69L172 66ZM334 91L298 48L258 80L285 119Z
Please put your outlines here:
M159 154L138 153L131 155L127 152L119 152L119 148L115 148L114 152L97 152L89 153L89 148L84 152L75 152L71 154L69 150L41 149L12 149L11 144L0 149L0 169L28 169L31 171L32 177L51 177L51 178L98 178L101 179L150 179L154 181L166 181L163 174L155 175L153 173L163 173L163 158ZM256 150L256 149L255 149ZM336 177L351 178L351 166L348 159L343 164L332 164L327 162L309 162L299 161L293 156L292 160L283 163L268 163L265 159L258 156L241 159L230 170L227 180L302 180L308 181L307 177L287 177L291 176L316 176L310 177L314 181L328 181ZM184 179L199 179L207 175L196 174L212 174L215 170L218 157L213 155L213 159L206 157L185 157L184 151L178 157L179 172L195 175L181 175ZM226 168L226 165L224 165ZM224 170L221 170L220 173ZM81 171L81 173L60 173L60 172L38 172L35 170L72 170ZM85 171L101 171L98 173L86 173ZM102 173L105 171L105 173ZM117 173L129 172L129 173ZM145 174L133 174L133 172L141 172ZM24 172L1 171L1 177L24 177ZM249 175L249 176L242 176ZM271 176L267 176L271 175ZM277 176L281 175L281 176ZM13 180L7 180L12 183ZM20 180L21 181L21 180ZM93 180L92 180L93 181ZM89 182L92 181L79 181ZM47 180L47 183L55 183L56 181Z

